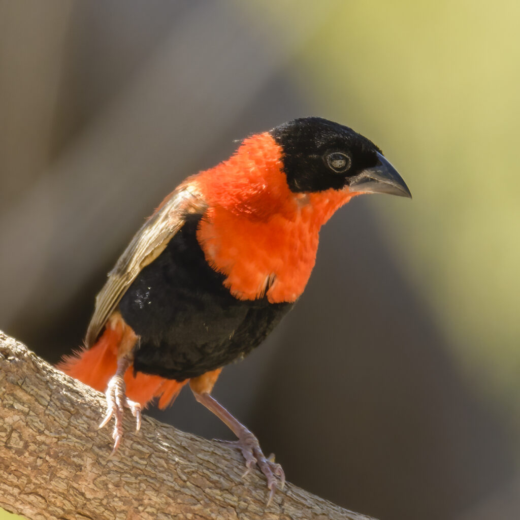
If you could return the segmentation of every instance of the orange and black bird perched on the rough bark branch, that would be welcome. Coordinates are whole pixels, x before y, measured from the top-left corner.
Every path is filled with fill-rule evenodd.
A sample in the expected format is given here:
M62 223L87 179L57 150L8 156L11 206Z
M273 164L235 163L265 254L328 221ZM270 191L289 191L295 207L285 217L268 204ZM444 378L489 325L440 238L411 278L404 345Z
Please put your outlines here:
M285 475L255 435L211 395L223 367L260 345L302 295L319 231L365 193L411 198L382 151L352 128L299 118L253 134L188 177L137 231L96 296L83 348L59 363L105 392L113 450L129 409L165 408L184 385L236 435L268 503Z

